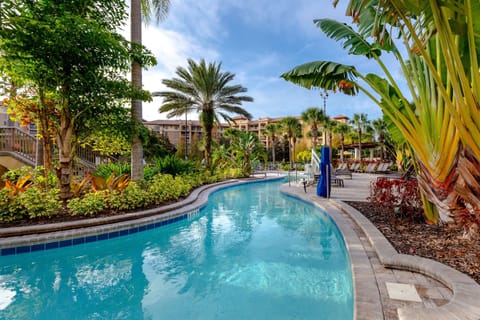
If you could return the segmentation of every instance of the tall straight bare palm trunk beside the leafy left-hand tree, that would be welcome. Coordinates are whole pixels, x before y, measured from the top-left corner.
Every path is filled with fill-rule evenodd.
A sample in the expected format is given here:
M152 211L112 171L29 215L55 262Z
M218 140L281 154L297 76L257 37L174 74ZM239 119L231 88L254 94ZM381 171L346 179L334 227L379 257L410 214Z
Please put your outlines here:
M130 34L131 41L142 43L142 7L140 0L132 0L130 4ZM132 84L142 89L142 66L138 61L132 62ZM131 151L131 178L133 181L143 179L143 147L138 133L138 126L142 122L142 101L132 100L132 151Z

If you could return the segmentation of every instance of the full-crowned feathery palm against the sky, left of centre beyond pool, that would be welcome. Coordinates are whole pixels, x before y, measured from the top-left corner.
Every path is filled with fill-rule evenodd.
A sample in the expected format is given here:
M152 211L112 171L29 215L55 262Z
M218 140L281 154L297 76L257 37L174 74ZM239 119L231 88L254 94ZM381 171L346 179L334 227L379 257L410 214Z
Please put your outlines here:
M212 131L218 118L234 122L231 113L248 119L252 115L241 107L242 102L252 102L253 98L241 93L247 89L240 85L229 85L235 75L221 71L221 63L207 63L204 59L197 64L188 59L188 68L177 67L178 78L165 79L162 83L172 91L159 93L163 97L160 112L168 112L172 118L183 115L186 110L196 110L205 135L205 165L210 168Z

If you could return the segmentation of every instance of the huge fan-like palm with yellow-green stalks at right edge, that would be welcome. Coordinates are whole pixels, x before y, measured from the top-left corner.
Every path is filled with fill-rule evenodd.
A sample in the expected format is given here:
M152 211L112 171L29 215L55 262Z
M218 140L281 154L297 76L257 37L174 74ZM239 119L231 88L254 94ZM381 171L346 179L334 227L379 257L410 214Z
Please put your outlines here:
M315 23L350 54L376 61L382 76L331 61L306 63L282 76L307 88L364 92L414 153L427 220L453 217L478 229L470 226L480 224L480 44L474 27L480 7L471 1L354 0L347 12L358 31L331 19ZM402 41L392 40L397 36ZM405 50L397 47L402 44ZM382 51L397 59L406 94Z

